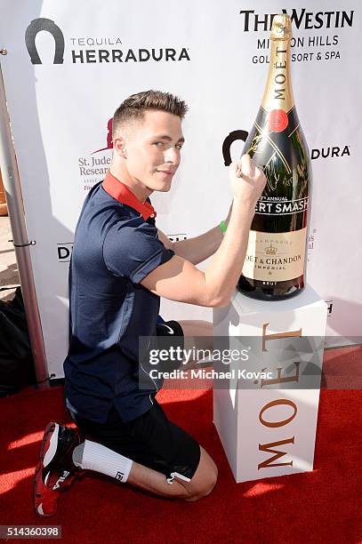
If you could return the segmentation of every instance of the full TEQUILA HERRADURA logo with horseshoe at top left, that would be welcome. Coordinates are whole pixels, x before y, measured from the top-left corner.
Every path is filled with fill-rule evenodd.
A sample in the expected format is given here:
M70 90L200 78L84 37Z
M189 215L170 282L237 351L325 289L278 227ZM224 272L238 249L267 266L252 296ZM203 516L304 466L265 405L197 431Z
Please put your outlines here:
M36 36L39 32L48 32L55 43L53 64L64 63L64 35L60 27L51 19L39 17L32 20L25 31L25 44L32 64L43 64L36 47ZM90 64L101 62L148 62L148 61L181 61L189 59L188 47L157 47L157 48L120 48L122 41L119 37L70 37L68 39L69 60L73 64ZM67 57L68 59L68 57Z

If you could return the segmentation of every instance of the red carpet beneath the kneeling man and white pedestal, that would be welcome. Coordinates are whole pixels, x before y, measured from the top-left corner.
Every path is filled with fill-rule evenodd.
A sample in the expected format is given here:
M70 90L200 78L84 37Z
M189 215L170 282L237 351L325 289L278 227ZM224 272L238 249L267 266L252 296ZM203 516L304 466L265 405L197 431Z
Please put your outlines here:
M361 348L352 348L327 351L326 363L339 366L352 353L356 364L356 349L361 361ZM209 497L155 498L92 473L62 494L49 520L33 513L32 476L45 425L70 422L62 388L28 388L1 399L0 524L61 525L62 542L362 541L360 391L321 392L313 472L245 484L235 483L213 427L212 395L164 390L157 397L215 460L219 481Z

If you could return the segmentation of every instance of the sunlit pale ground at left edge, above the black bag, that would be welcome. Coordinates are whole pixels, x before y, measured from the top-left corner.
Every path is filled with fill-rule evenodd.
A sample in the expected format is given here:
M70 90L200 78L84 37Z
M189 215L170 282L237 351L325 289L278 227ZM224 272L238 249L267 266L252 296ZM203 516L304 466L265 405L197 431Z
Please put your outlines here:
M0 300L11 300L15 287L20 284L15 251L9 240L12 240L10 219L0 217L0 288L14 287L11 291L0 291Z

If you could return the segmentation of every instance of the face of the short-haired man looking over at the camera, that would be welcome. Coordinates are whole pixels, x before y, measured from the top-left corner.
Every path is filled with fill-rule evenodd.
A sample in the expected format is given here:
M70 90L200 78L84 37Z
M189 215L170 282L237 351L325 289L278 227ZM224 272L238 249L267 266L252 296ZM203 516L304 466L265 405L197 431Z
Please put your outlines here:
M184 142L179 116L148 110L125 134L125 167L130 177L152 191L169 191Z

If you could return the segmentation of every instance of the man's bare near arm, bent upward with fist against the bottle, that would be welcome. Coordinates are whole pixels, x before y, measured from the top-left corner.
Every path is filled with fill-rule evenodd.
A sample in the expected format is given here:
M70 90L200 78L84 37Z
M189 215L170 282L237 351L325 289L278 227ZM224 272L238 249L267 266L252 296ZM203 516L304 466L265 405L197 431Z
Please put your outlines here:
M166 299L199 306L226 306L241 275L255 205L265 186L265 176L255 168L250 156L238 162L243 179L230 167L234 202L229 227L205 272L189 260L175 255L152 270L141 284Z

